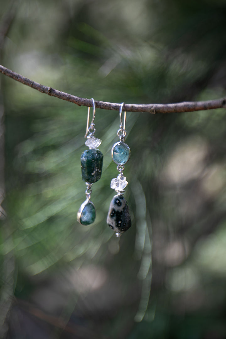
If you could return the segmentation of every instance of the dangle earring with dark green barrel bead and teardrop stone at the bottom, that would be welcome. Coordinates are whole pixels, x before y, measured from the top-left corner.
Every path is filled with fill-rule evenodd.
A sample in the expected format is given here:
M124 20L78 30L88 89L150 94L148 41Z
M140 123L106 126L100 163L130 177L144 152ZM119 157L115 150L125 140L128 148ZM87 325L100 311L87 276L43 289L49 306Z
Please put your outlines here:
M86 134L85 138L87 138L85 145L89 147L86 149L81 155L81 168L82 168L82 180L86 183L86 200L81 204L78 214L77 220L82 225L90 225L95 221L96 218L96 209L94 203L90 200L91 198L91 187L94 182L97 182L101 178L102 174L102 166L103 166L103 154L97 148L102 143L102 140L94 137L96 132L94 119L95 119L95 101L93 101L93 119L89 126L89 115L90 115L90 107L88 107L88 115L87 115L87 125L86 125Z

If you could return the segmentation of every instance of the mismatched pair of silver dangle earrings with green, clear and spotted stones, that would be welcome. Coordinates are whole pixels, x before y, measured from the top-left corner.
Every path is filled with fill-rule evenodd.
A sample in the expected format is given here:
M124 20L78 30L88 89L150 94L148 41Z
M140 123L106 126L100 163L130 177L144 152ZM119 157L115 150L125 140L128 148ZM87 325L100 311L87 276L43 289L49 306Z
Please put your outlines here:
M82 225L90 225L94 222L96 218L96 209L94 203L91 202L91 186L94 182L98 181L101 178L102 165L103 165L103 154L97 148L102 140L94 137L96 132L94 119L95 119L95 101L93 101L93 119L89 126L89 115L90 107L88 107L88 116L87 116L87 125L86 125L86 134L87 138L85 144L89 147L88 150L84 151L81 155L81 168L82 168L82 180L86 182L86 200L82 203L79 208L77 219ZM122 111L124 107L124 102L121 103L119 116L120 116L120 129L117 132L117 135L120 139L119 142L115 143L111 149L112 160L117 164L117 170L119 175L117 178L111 180L110 187L113 188L117 195L113 197L110 203L107 224L109 227L116 232L116 236L120 237L122 233L128 230L131 226L131 217L129 215L129 206L125 200L124 188L127 186L128 182L126 177L123 176L124 165L129 161L130 158L130 149L129 146L125 143L126 130L126 112L124 112L124 121L122 121ZM89 133L89 134L88 134Z

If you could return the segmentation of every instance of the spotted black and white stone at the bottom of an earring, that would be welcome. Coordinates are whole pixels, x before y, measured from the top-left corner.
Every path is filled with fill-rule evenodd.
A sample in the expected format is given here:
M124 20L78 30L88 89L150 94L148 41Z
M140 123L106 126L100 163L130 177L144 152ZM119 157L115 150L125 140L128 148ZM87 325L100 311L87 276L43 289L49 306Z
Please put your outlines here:
M123 195L115 195L111 200L107 223L112 230L123 233L131 226L131 217L129 215L129 205Z

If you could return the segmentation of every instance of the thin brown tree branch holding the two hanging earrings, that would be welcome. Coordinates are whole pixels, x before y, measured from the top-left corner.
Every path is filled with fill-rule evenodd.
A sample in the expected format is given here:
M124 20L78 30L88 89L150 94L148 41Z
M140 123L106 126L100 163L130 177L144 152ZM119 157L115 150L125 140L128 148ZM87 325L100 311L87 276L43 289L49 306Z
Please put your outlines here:
M37 89L37 91L41 93L45 93L52 97L57 97L62 100L73 102L78 106L93 107L93 102L90 99L79 98L74 95L58 91L57 89L54 89L52 87L44 86L42 84L39 84L38 82L25 78L24 76L11 71L11 69L8 69L2 65L0 65L0 72L4 75L7 75L9 78L12 78L16 81L23 83L24 85ZM95 101L95 103L96 108L111 109L113 111L119 111L121 106L121 104L118 103L104 101ZM214 108L226 108L226 98L209 101L194 101L194 102L188 101L172 104L144 104L144 105L125 104L123 109L126 112L149 112L152 114L156 114L156 113L194 112Z

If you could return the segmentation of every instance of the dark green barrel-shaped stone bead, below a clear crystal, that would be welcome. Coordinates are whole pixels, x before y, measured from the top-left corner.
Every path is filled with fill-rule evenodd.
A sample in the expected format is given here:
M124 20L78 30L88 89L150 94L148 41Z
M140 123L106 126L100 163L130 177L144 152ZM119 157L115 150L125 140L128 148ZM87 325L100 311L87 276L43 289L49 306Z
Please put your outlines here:
M101 178L103 154L99 149L86 149L81 155L82 180L93 183Z

